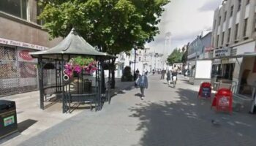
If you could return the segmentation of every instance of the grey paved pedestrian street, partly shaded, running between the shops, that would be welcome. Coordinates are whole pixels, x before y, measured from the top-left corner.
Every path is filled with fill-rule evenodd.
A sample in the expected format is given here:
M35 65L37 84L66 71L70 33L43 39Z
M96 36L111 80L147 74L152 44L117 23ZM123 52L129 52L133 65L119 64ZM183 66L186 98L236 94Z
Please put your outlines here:
M217 114L197 100L196 86L178 79L174 89L151 76L143 101L139 89L120 92L102 111L80 112L20 145L256 145L255 115Z

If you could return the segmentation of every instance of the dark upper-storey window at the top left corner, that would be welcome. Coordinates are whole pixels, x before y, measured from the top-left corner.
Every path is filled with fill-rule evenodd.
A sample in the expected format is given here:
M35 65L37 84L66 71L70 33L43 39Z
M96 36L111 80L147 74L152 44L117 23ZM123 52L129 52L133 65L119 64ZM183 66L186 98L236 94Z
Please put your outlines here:
M1 0L0 11L27 19L27 0Z

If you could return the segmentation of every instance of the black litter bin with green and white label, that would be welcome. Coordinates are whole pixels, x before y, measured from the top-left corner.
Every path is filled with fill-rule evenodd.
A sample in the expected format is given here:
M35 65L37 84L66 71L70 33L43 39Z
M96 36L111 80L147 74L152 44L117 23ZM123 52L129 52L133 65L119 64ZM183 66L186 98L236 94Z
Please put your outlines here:
M18 131L15 101L0 100L0 139Z

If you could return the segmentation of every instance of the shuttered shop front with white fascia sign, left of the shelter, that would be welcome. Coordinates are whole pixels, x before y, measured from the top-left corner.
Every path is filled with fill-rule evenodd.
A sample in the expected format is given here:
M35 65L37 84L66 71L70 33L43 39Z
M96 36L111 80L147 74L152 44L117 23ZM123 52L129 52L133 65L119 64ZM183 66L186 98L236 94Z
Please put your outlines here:
M37 59L46 47L0 38L0 96L37 90Z

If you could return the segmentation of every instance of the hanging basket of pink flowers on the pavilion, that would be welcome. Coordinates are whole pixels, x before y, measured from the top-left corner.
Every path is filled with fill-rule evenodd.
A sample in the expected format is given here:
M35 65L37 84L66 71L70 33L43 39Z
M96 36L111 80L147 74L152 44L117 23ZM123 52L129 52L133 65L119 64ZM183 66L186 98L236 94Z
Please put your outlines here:
M73 77L74 73L80 74L82 71L85 71L86 74L92 74L97 70L97 61L94 61L93 58L76 57L70 59L64 68L64 73L68 77Z

